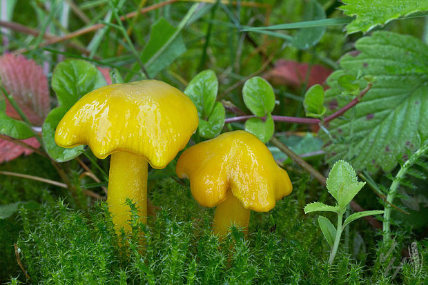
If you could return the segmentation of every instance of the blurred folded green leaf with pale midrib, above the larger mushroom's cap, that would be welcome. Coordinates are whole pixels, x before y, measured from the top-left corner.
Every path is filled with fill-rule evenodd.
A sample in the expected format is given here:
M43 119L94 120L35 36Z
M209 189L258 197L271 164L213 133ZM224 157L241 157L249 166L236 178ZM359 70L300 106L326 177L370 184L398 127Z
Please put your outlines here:
M175 34L177 30L164 18L157 20L151 27L150 39L141 57L150 77L155 77L186 51L182 37Z

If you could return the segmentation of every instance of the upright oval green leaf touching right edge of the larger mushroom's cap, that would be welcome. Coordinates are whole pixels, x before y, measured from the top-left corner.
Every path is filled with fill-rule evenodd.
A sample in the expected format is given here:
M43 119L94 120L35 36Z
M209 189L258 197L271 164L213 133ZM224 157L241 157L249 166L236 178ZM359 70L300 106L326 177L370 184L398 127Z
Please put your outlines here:
M188 83L184 93L193 101L200 119L208 119L217 98L218 81L213 70L204 70Z

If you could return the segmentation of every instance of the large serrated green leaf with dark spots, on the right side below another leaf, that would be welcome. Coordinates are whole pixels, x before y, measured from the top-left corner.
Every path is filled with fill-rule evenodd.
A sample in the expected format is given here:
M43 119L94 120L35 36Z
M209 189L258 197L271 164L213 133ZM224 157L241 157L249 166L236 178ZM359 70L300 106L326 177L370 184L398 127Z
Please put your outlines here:
M358 73L376 78L373 87L353 110L329 123L327 135L321 135L327 159L331 163L347 157L357 170L388 172L405 155L416 150L420 136L428 135L428 48L419 39L393 32L373 32L356 43L359 55L345 55L342 70L327 79L325 92L329 112L349 103L342 96L338 79ZM360 88L367 85L360 79ZM343 118L343 119L342 119Z

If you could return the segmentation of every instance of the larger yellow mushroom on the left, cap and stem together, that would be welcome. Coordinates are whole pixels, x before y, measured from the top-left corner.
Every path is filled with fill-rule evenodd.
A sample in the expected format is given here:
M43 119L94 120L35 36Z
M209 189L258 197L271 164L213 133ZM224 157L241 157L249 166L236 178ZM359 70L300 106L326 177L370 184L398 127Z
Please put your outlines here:
M55 142L64 148L87 144L100 159L111 155L108 208L117 230L129 231L127 198L146 222L147 162L164 168L197 125L195 105L177 88L157 80L117 83L77 101L59 122Z

